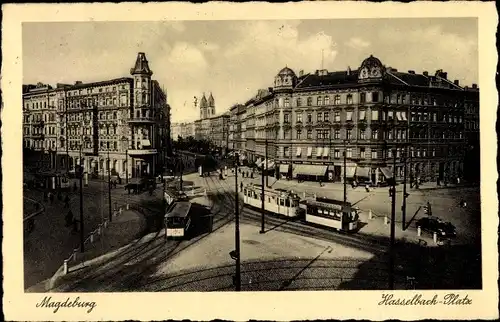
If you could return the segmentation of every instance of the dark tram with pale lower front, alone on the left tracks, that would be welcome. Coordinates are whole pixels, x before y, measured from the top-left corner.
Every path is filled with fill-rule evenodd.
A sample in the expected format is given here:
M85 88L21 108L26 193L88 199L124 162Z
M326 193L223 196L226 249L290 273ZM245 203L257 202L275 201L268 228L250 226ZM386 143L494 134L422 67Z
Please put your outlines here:
M191 227L191 203L189 201L175 202L170 211L165 214L165 237L183 238Z

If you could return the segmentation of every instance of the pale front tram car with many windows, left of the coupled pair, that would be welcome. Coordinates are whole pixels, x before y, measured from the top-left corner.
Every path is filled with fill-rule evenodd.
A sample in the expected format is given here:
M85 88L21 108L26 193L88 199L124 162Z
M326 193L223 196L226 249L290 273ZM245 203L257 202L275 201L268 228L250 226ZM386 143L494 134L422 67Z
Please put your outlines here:
M262 207L262 186L250 184L243 188L243 202L255 208ZM272 190L264 188L264 208L266 211L286 216L300 216L300 198L297 194L286 190Z

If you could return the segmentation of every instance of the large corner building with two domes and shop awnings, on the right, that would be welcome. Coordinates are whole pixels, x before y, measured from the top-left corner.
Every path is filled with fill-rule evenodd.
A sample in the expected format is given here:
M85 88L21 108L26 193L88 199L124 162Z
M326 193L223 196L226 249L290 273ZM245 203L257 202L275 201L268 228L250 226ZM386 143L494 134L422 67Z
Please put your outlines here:
M410 180L451 180L464 174L466 130L479 129L478 93L442 70L399 72L373 56L357 70L286 67L245 104L246 153L258 162L267 150L281 176L328 181L343 181L345 153L347 180L373 183L392 175L394 157L402 180L407 155Z

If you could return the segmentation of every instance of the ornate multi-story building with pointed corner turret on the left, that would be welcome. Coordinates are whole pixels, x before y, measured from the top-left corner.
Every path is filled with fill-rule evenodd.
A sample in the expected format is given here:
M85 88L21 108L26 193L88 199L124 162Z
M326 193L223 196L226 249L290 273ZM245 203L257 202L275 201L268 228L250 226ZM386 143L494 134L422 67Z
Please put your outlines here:
M23 86L24 146L50 150L57 169L136 177L161 171L170 154L170 106L139 53L132 77ZM81 156L81 157L80 157Z

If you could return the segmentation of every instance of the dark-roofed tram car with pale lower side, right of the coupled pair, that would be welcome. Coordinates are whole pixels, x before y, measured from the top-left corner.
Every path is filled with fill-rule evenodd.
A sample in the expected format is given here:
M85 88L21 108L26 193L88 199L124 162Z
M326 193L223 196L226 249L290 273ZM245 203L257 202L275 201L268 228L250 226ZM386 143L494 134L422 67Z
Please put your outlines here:
M300 208L307 223L352 232L358 228L359 210L351 203L328 198L302 200Z

